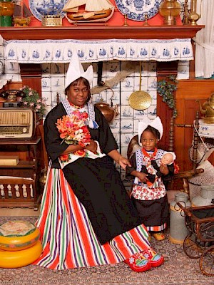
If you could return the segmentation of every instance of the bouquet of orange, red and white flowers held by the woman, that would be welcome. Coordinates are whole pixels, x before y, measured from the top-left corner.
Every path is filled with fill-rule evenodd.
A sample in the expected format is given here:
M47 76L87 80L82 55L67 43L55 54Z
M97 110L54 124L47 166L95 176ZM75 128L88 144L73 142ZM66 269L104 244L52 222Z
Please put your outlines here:
M56 128L60 133L62 142L68 145L81 145L85 147L90 143L91 135L87 127L88 113L81 113L79 110L74 110L71 117L63 115L57 120Z

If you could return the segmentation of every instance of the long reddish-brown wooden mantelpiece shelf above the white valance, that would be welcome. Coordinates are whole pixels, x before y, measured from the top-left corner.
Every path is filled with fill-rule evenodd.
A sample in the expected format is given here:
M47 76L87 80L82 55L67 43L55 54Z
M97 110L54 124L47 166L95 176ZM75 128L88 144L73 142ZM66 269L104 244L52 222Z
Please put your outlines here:
M78 39L172 39L193 38L204 28L196 26L61 26L61 27L0 27L5 40Z

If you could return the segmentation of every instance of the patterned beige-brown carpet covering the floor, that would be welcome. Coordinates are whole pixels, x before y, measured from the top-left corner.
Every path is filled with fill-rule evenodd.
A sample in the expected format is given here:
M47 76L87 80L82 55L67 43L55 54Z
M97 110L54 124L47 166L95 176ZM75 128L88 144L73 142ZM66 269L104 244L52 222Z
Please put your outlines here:
M35 222L36 217L22 217ZM10 218L20 219L20 217ZM0 217L0 223L9 218ZM198 259L190 259L183 252L182 244L172 244L168 238L157 242L152 238L152 246L165 257L165 263L151 271L136 273L127 264L96 266L91 268L51 271L39 266L25 266L19 269L0 269L0 284L4 285L214 285L214 278L200 271Z

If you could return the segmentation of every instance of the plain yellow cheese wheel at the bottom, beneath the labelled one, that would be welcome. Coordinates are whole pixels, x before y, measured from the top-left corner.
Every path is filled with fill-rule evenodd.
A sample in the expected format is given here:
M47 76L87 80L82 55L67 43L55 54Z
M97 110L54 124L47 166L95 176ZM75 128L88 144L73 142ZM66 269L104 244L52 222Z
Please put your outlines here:
M18 268L29 265L36 261L41 255L42 245L38 241L28 249L17 252L7 252L0 249L0 267L1 268Z

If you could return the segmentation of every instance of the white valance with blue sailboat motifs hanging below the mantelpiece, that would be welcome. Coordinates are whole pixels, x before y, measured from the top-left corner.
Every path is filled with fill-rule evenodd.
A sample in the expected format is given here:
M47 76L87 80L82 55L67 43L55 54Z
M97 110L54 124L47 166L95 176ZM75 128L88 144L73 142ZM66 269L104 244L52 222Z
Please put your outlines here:
M73 52L81 62L111 61L190 61L190 38L172 40L11 40L4 42L6 61L19 63L68 63Z

